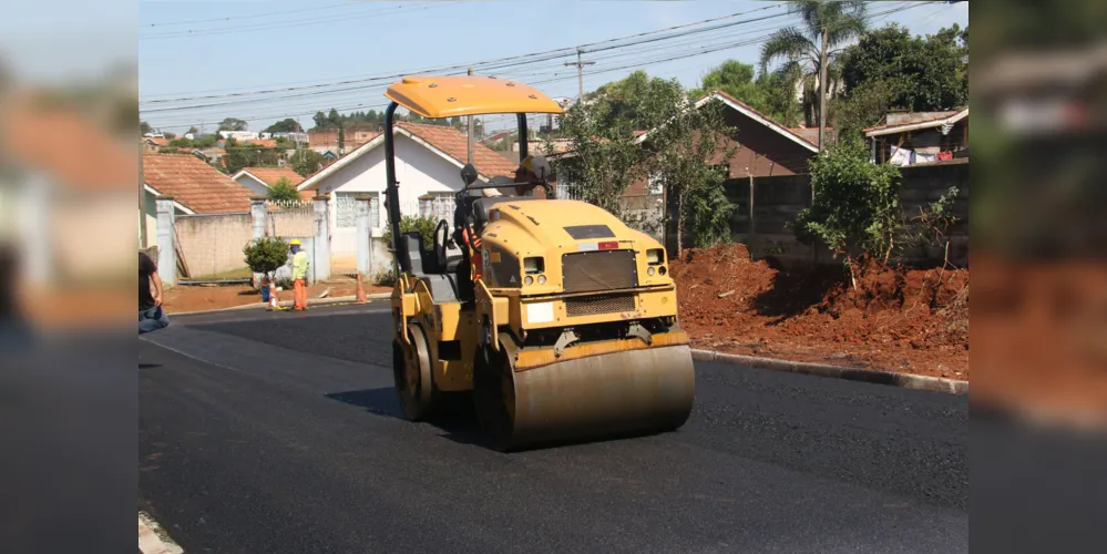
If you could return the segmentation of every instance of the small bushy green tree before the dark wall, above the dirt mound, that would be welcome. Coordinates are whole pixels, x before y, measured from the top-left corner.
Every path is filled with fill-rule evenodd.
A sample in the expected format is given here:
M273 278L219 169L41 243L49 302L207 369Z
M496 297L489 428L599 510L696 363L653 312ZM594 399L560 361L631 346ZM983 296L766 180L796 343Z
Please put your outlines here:
M814 199L792 222L796 237L821 239L841 256L857 288L859 258L888 264L891 256L903 220L900 185L896 165L873 164L861 141L844 141L811 161Z

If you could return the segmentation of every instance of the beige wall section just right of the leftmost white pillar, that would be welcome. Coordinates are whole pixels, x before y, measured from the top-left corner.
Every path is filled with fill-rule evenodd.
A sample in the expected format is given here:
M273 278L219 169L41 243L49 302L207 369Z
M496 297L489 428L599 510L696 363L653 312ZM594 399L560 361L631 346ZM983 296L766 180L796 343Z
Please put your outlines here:
M243 248L253 238L248 213L177 215L174 226L189 278L246 267Z

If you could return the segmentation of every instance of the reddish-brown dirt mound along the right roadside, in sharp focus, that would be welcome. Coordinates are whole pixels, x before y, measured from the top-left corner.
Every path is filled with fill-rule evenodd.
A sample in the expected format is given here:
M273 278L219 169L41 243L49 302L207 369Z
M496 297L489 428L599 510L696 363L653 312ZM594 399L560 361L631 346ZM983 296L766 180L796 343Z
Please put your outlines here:
M673 260L681 325L705 348L967 379L968 271L785 269L742 245Z

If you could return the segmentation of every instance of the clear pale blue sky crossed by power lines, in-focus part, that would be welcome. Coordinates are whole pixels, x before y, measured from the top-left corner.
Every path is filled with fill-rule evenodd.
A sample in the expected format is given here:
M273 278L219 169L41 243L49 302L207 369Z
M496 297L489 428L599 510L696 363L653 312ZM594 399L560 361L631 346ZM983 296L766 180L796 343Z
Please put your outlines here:
M387 83L362 84L359 90L345 92L335 92L335 89L351 85L284 93L286 96L296 94L284 100L246 96L248 102L191 111L146 111L223 103L230 99L150 103L152 100L301 86L465 64L574 47L759 8L766 9L740 19L783 13L782 8L775 7L777 3L143 1L137 8L143 119L163 131L178 133L201 123L207 130L214 130L226 116L254 120L249 124L255 131L284 115L293 115L310 126L309 113L317 110L359 109L359 104L362 110L379 110L385 102L382 85ZM954 22L962 27L968 22L967 2L903 9L915 3L919 2L872 2L869 10L881 12L900 8L877 18L875 24L898 22L920 34L935 32ZM586 72L693 53L705 45L755 41L788 22L787 18L777 17L699 37L586 53L585 60L597 60L596 65L586 68ZM193 32L188 33L189 30ZM585 90L594 89L635 69L644 69L650 75L676 78L686 86L694 86L706 71L724 60L756 62L758 49L759 44L754 43L666 63L585 74L584 86ZM536 83L553 96L575 96L575 69L563 65L568 60L535 62L492 74ZM537 84L539 81L550 82ZM501 121L490 120L489 126L508 123L506 119Z

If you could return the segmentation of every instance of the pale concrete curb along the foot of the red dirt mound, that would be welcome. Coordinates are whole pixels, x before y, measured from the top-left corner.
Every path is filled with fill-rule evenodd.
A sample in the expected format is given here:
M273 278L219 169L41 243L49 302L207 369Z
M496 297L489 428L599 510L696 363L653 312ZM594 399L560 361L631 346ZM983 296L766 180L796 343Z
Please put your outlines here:
M834 379L845 379L873 384L890 384L892 387L927 390L932 392L945 392L950 394L968 394L968 381L959 381L956 379L942 379L937 377L896 373L892 371L877 371L872 369L853 369L826 363L810 363L806 361L758 358L755 356L725 353L717 352L715 350L699 350L695 348L691 350L691 357L693 359L699 361L717 361L719 363L728 363L731 366L752 367L773 371L789 371L792 373L830 377Z

